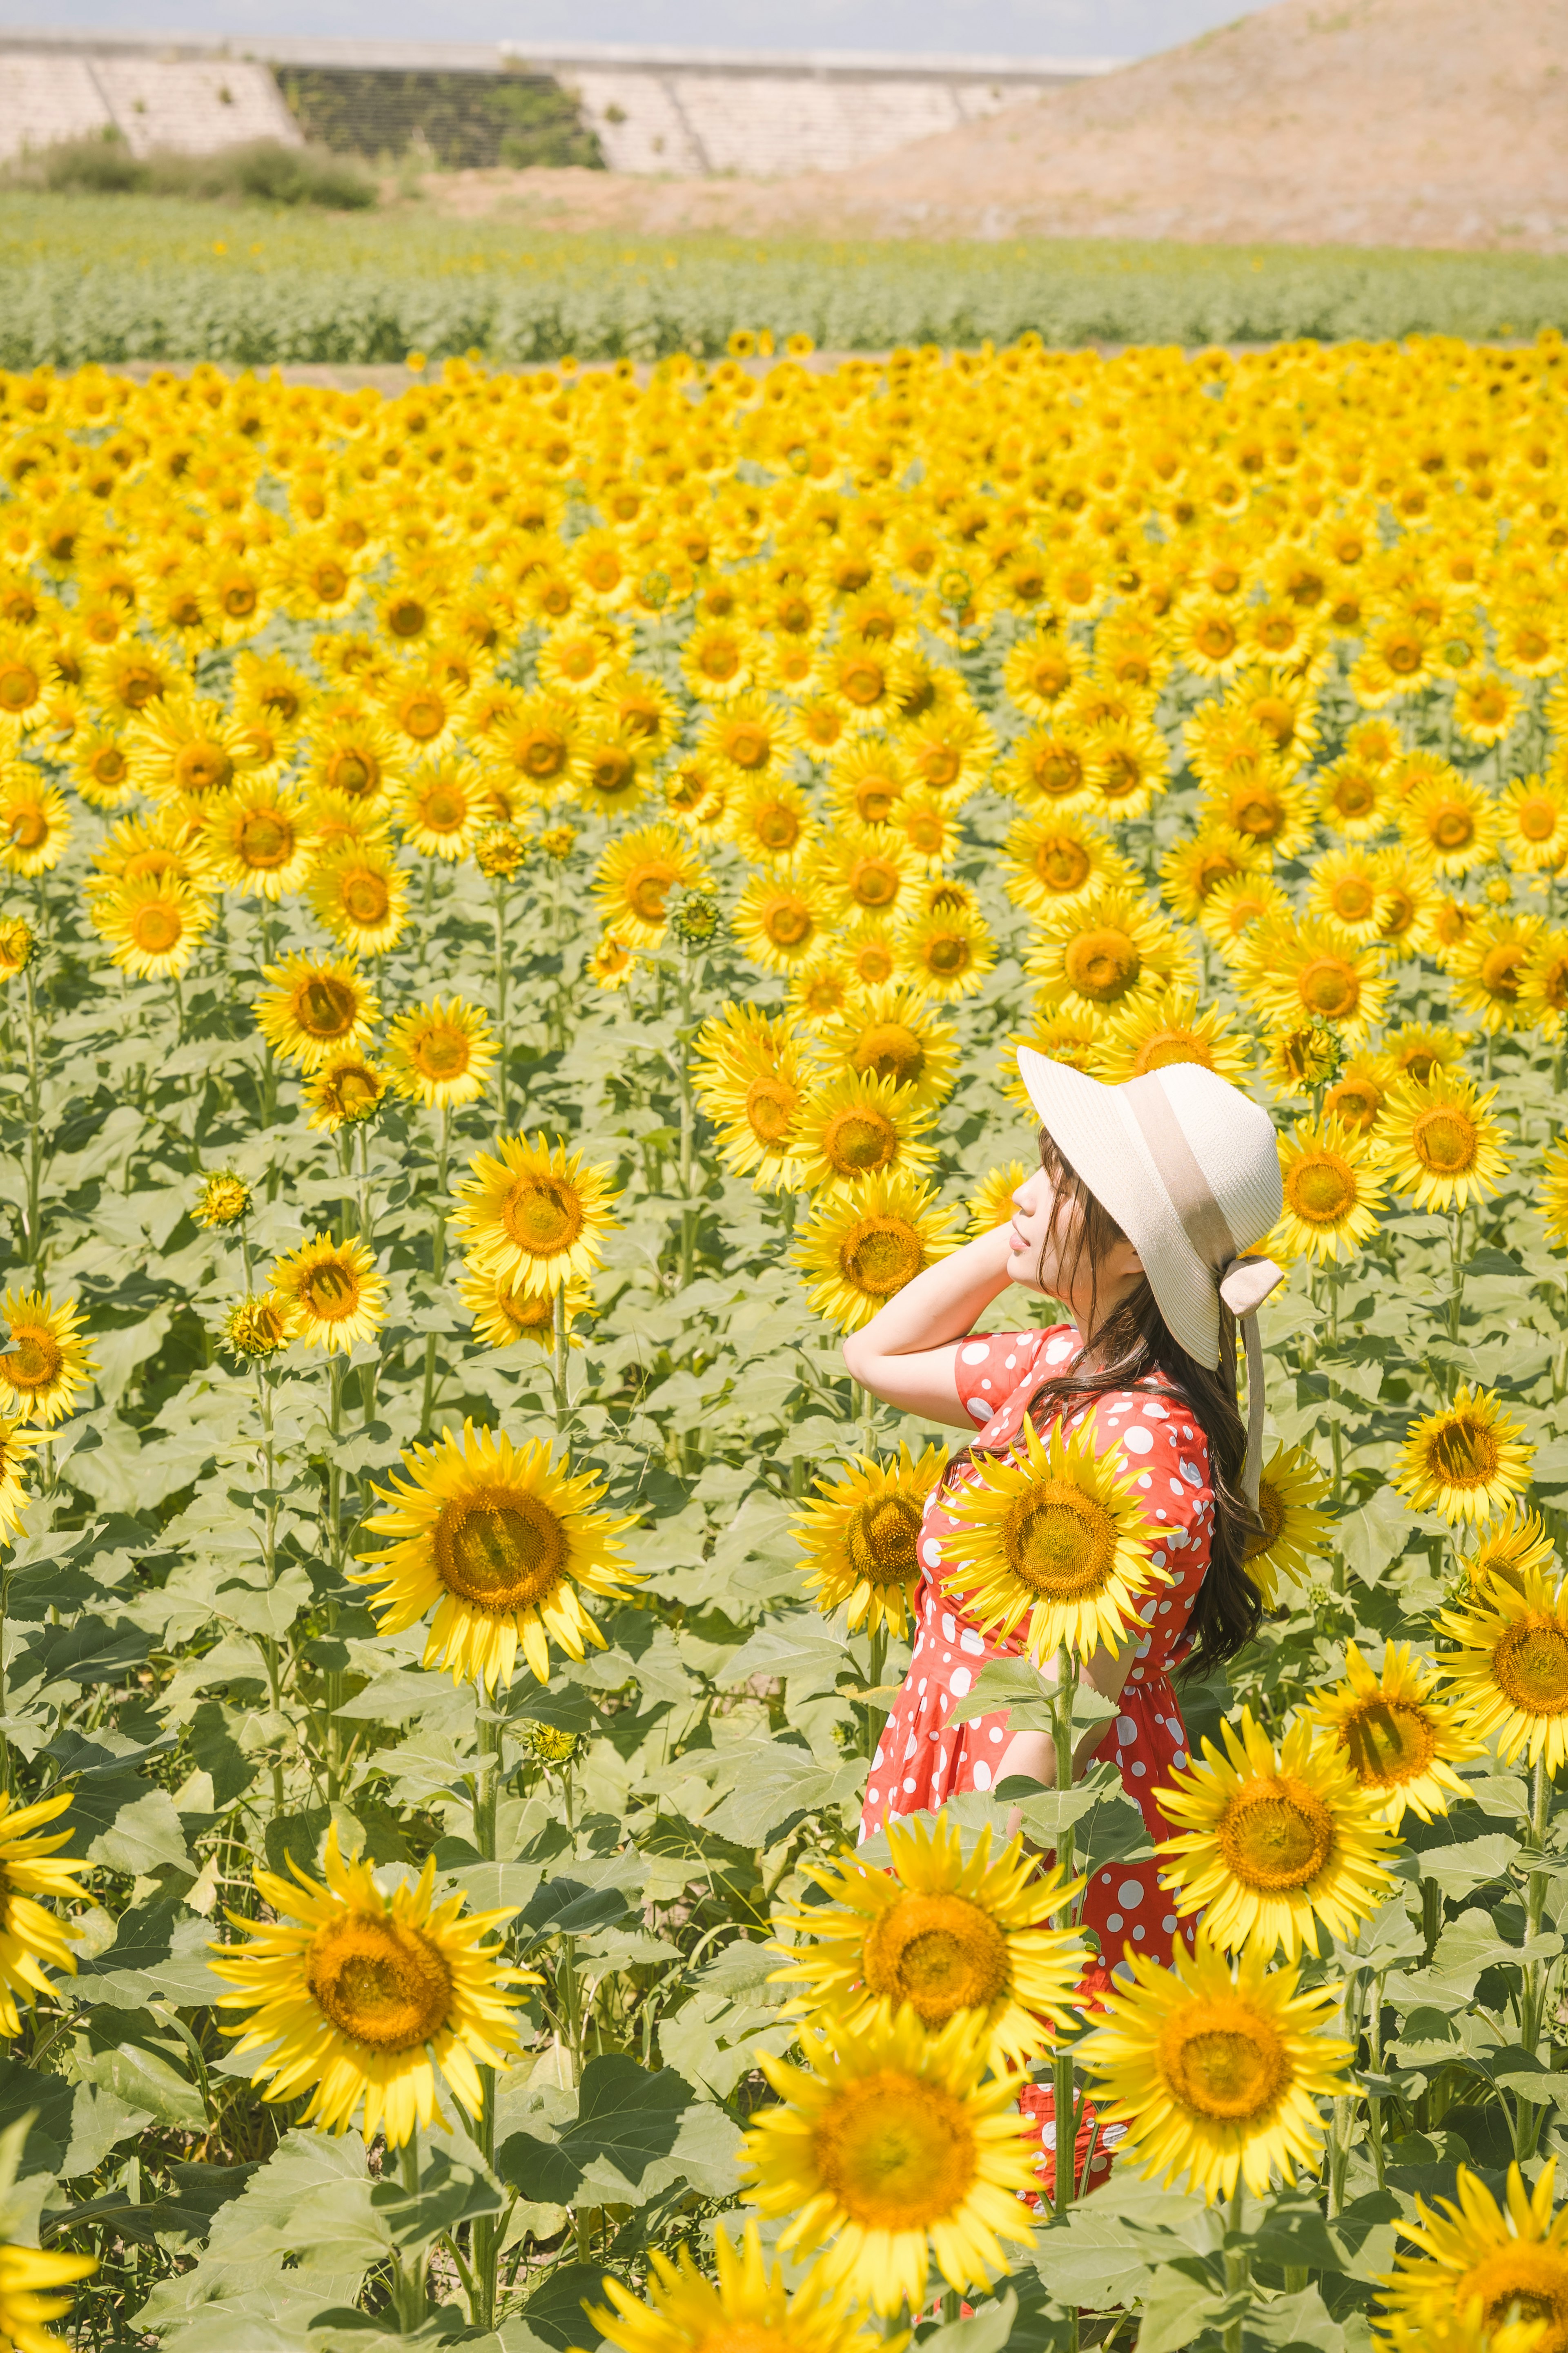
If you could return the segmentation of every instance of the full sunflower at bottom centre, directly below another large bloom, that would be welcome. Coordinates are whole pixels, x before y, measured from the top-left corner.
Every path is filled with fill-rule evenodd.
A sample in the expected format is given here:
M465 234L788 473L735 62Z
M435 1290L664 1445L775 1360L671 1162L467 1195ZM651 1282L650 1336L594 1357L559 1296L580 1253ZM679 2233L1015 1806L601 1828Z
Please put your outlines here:
M980 2082L987 2033L954 2017L926 2033L912 2009L853 2028L802 2031L804 2068L757 2064L778 2104L745 2137L748 2195L792 2217L780 2249L825 2247L830 2280L877 2313L926 2301L931 2257L959 2294L1006 2271L999 2240L1027 2242L1020 2193L1039 2141L1018 2082Z

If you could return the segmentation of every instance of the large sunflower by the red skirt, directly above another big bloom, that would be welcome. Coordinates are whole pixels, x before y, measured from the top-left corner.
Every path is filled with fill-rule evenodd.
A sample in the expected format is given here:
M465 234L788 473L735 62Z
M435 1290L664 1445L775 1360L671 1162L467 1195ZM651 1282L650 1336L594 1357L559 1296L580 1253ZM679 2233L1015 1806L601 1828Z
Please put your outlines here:
M990 1824L964 1854L964 1833L945 1814L889 1817L886 1842L889 1871L856 1854L806 1866L816 1894L773 1915L776 1934L795 1939L773 1984L806 1986L795 2014L830 2014L849 2033L867 2012L893 2017L905 2002L926 2033L969 2012L990 2031L985 2057L999 2075L1030 2066L1048 2026L1077 2026L1072 1993L1086 1948L1077 1929L1056 1929L1051 1918L1084 1880L1037 1871L1023 1838L992 1859Z

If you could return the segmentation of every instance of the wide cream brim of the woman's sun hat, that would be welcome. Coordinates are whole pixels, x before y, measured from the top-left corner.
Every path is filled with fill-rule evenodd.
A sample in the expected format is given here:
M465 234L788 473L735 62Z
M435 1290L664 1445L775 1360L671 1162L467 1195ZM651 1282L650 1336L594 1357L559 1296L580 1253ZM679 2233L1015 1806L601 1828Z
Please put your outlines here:
M1187 1240L1171 1195L1154 1167L1143 1127L1119 1087L1086 1078L1034 1047L1018 1047L1018 1073L1041 1127L1121 1226L1143 1259L1150 1289L1171 1337L1199 1365L1220 1362L1220 1294L1208 1266Z

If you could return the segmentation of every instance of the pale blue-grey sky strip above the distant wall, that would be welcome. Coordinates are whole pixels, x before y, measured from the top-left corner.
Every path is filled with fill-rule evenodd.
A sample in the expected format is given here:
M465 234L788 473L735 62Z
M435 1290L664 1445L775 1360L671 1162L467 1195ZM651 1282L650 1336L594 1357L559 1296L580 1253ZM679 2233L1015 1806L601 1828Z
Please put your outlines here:
M1265 0L0 0L0 26L1147 56Z

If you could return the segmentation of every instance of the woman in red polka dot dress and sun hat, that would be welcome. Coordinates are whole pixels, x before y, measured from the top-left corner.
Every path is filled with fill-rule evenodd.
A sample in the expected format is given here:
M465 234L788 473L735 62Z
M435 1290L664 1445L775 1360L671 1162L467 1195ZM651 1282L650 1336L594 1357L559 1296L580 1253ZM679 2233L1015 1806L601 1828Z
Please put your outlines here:
M1018 1638L985 1635L961 1581L945 1584L943 1539L978 1475L973 1457L1011 1449L1025 1414L1041 1433L1058 1419L1067 1431L1093 1421L1095 1452L1133 1473L1161 1527L1152 1562L1168 1584L1145 1600L1145 1631L1081 1661L1119 1715L1074 1758L1077 1774L1091 1758L1121 1765L1154 1840L1171 1835L1154 1791L1187 1762L1171 1673L1220 1666L1258 1624L1246 1574L1262 1454L1255 1308L1279 1268L1239 1242L1267 1233L1281 1207L1269 1115L1197 1064L1124 1087L1027 1047L1018 1066L1044 1125L1041 1165L1013 1193L1011 1224L926 1268L844 1344L856 1381L884 1402L926 1421L980 1424L926 1501L914 1657L872 1760L863 1838L889 1814L943 1807L959 1788L1056 1779L1048 1737L1011 1732L1006 1708L947 1729L985 1661L1023 1649ZM1072 1322L976 1334L1009 1282L1060 1299ZM1248 1318L1251 1428L1237 1409L1237 1315ZM1168 1965L1178 1934L1154 1864L1095 1871L1084 1925L1100 1946L1086 1998L1126 1951ZM1041 2104L1048 2113L1048 2094L1030 2101Z

